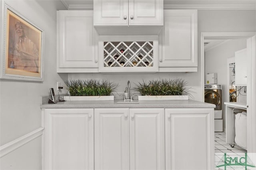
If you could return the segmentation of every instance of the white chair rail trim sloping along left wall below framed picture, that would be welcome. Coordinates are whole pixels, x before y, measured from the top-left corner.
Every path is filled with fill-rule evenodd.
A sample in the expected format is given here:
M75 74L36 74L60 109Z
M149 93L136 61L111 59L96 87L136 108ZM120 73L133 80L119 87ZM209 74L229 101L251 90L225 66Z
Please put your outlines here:
M44 127L40 127L36 129L35 131L32 131L22 137L19 137L18 139L15 139L13 141L10 141L9 143L6 143L5 145L2 145L0 147L0 158L5 156L6 154L18 149L19 147L25 145L26 143L29 143L30 141L36 139L37 137L40 137L44 132Z

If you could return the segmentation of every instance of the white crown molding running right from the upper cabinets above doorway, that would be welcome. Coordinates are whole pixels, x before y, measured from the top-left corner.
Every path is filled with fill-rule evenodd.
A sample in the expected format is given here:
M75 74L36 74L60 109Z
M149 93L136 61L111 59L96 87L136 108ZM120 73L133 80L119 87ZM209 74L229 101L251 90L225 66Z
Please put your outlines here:
M164 5L164 10L256 10L255 5Z

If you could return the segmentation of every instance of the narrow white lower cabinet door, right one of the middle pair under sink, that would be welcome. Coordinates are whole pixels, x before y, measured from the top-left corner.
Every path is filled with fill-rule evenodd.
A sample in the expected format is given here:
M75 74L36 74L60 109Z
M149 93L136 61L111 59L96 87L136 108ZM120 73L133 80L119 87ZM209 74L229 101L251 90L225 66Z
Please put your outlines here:
M130 169L164 169L164 109L130 109Z

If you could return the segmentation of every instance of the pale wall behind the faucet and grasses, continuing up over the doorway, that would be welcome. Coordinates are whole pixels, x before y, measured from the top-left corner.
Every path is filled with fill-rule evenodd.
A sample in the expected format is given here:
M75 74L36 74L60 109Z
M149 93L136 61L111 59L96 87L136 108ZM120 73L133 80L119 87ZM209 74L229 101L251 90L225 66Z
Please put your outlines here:
M134 83L144 80L158 78L183 78L188 82L188 86L193 88L192 95L194 100L203 101L204 89L201 88L201 56L200 56L200 34L201 32L218 31L256 31L256 12L255 10L198 10L198 72L191 73L155 73L155 74L68 74L68 78L107 78L110 81L118 82L118 92L124 92L127 81L130 80L131 86Z

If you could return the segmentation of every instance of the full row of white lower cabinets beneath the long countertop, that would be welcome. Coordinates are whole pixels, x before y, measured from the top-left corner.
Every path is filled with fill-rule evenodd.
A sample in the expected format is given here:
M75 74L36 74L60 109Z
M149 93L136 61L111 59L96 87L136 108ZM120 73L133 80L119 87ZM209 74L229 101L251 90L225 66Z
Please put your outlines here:
M214 169L214 108L54 108L42 113L42 169Z

